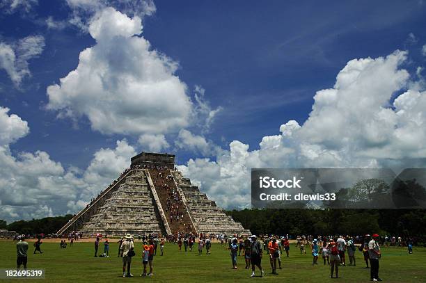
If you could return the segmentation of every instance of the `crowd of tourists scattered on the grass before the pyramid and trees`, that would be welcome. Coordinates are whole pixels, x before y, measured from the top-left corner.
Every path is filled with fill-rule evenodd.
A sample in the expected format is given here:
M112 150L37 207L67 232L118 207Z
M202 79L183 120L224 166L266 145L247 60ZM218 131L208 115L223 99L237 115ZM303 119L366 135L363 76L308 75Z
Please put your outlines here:
M70 246L78 233L70 233L68 241ZM356 266L355 254L361 252L365 262L364 268L370 269L370 280L373 282L382 281L379 277L379 261L381 259L381 246L384 245L405 245L407 244L408 252L413 252L413 241L411 238L398 239L393 242L390 237L389 243L386 237L381 241L381 236L378 234L365 234L364 236L297 236L295 238L294 247L301 252L302 255L310 252L312 256L311 264L318 265L319 257L322 257L322 265L329 266L330 278L340 277L341 266ZM27 265L27 251L29 244L25 241L25 235L17 238L17 268ZM228 236L226 234L193 234L193 233L178 233L175 235L163 237L159 234L148 234L126 236L118 240L118 255L122 257L123 261L123 277L132 277L131 266L132 257L136 255L136 247L134 241L139 241L142 244L141 254L142 258L141 276L153 275L153 260L157 255L157 248L159 247L161 254L164 253L165 242L177 244L178 250L184 252L191 252L197 250L198 255L211 254L212 241L220 241L221 245L225 244L226 248L230 250L230 258L233 269L238 268L238 257L243 257L245 268L251 270L250 277L262 277L265 275L265 268L262 266L262 259L267 257L268 264L271 266L271 274L278 275L278 270L282 268L281 257L290 257L290 236L276 236L276 235L251 235L251 236L238 236L234 234ZM104 253L99 257L109 257L109 239L107 235L102 237L102 234L97 234L95 238L95 257L98 257L98 249L102 244L104 245ZM42 253L41 250L42 238L40 235L37 241L33 243L34 254ZM66 239L61 240L60 248L67 248L68 243ZM197 248L197 249L196 249ZM358 263L359 264L359 263ZM255 275L256 269L259 270L259 275Z

